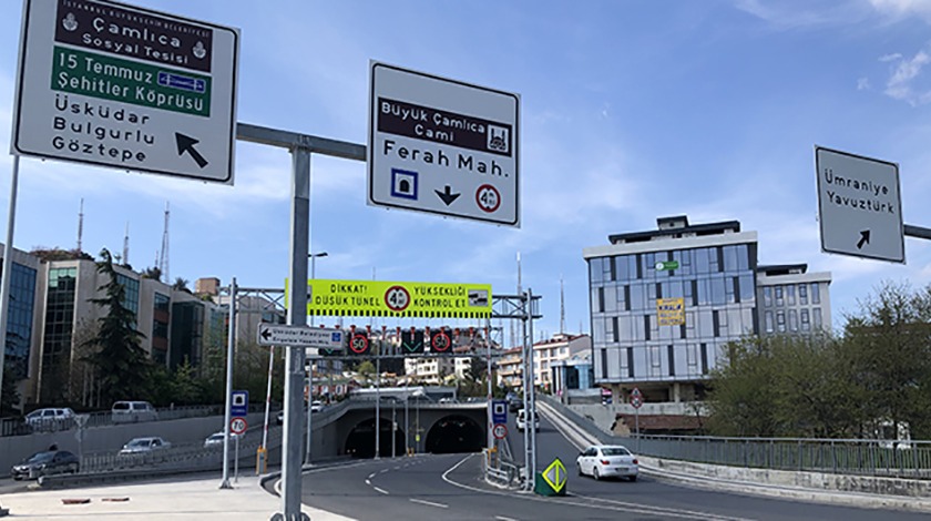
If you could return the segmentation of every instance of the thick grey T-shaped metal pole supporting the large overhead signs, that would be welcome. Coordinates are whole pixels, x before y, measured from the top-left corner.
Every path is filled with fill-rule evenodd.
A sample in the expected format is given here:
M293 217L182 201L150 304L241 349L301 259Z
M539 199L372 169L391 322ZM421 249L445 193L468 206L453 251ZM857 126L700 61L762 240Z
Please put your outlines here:
M287 149L291 154L291 223L288 280L288 325L307 324L307 254L310 234L310 154L366 161L365 145L239 123L236 139ZM306 519L300 512L301 396L304 348L288 347L285 359L285 425L282 454L282 509L273 520Z

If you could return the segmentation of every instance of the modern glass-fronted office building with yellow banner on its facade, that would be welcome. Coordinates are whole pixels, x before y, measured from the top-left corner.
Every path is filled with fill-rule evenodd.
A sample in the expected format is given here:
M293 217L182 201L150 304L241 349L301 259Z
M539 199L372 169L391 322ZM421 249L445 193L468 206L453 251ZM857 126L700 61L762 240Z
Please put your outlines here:
M710 371L726 361L725 346L761 333L759 299L777 287L798 292L808 284L810 303L816 283L829 324L830 275L778 269L760 273L758 282L757 234L737 221L689 225L686 216L663 217L655 231L608 242L585 248L583 257L594 382L611 389L615 403L627 401L634 387L648 402L700 399Z

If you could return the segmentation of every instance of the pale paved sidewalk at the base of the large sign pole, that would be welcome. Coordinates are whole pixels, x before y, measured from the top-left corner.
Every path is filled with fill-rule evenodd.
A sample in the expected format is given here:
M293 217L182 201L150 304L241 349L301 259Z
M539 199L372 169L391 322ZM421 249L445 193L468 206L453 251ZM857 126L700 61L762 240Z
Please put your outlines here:
M32 490L0 496L0 505L9 509L4 519L89 520L208 520L262 521L282 510L282 499L262 488L259 477L231 480L233 489L221 489L221 477L177 478L145 483L120 484L70 490ZM65 504L62 500L90 500ZM303 505L315 521L348 521Z

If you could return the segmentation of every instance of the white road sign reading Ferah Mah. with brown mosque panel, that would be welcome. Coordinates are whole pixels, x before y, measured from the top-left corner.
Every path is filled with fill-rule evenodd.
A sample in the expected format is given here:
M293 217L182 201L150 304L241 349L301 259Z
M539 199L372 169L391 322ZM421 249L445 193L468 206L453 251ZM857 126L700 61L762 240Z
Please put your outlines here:
M371 62L368 203L520 226L520 96Z

